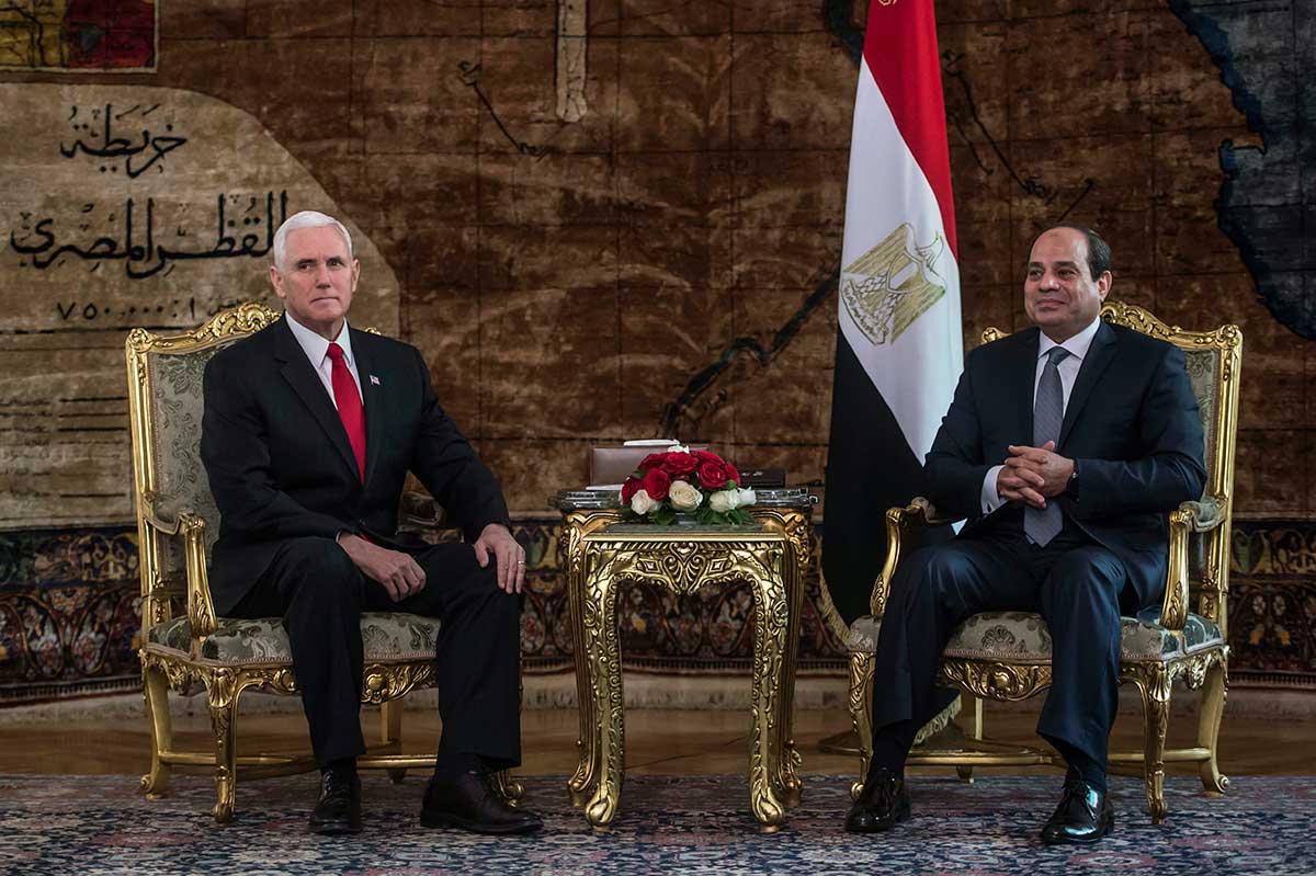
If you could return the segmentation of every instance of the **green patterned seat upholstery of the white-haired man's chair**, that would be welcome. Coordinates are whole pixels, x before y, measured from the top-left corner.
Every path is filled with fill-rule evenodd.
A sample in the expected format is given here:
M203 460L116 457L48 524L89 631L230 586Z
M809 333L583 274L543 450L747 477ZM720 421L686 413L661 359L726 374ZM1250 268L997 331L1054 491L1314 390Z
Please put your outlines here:
M361 641L367 663L433 660L438 621L418 614L366 612L361 616ZM192 625L176 617L150 629L147 641L175 651L188 651ZM201 658L216 663L284 663L292 666L288 634L276 617L255 620L220 618L215 633L201 645Z

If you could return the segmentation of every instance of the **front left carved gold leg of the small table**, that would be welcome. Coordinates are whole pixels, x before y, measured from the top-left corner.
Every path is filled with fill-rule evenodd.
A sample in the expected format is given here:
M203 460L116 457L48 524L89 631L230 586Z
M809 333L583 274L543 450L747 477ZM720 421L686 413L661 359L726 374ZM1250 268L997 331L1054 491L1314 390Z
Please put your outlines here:
M621 800L626 725L622 714L621 662L617 654L616 581L607 575L586 571L584 597L586 659L595 716L595 767L597 788L586 806L586 819L605 829L617 814Z

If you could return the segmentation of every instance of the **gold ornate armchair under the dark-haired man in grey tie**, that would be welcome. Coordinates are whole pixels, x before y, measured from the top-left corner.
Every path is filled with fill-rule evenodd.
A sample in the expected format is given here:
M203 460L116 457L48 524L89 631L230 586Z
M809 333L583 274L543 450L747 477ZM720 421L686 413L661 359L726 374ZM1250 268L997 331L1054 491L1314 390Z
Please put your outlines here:
M1161 823L1166 813L1162 788L1166 762L1196 763L1208 792L1224 793L1229 785L1216 764L1216 739L1228 685L1227 596L1242 333L1233 325L1215 331L1184 331L1141 308L1116 303L1101 308L1101 318L1163 338L1184 351L1205 427L1207 488L1200 501L1184 502L1170 513L1170 559L1161 617L1155 623L1123 618L1120 681L1132 681L1142 694L1145 730L1142 750L1112 751L1111 766L1112 769L1141 767L1148 810L1152 821ZM987 329L983 343L1003 334ZM850 626L850 716L859 737L861 777L867 773L873 751L873 664L888 581L908 534L929 522L948 522L934 521L934 514L925 499L887 512L888 551L873 587L873 614ZM966 705L973 705L967 743L954 751L916 748L908 763L954 766L963 779L973 776L975 766L1063 764L1050 750L1005 746L983 735L983 698L1024 700L1045 691L1051 680L1050 651L1050 635L1038 614L991 612L965 621L946 646L940 675L963 692ZM1167 750L1170 689L1177 680L1202 689L1198 744ZM862 784L855 783L851 793L857 797L861 789Z

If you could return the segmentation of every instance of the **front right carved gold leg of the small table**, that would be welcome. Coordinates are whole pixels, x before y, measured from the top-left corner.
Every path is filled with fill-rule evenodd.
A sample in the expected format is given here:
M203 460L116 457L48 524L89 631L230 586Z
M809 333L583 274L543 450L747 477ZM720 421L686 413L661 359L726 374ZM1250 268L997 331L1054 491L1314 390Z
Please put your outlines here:
M769 551L765 551L769 552ZM776 554L780 567L780 554ZM782 576L763 575L754 581L754 681L753 730L749 752L749 801L765 833L780 829L786 808L774 791L774 776L782 775L782 751L774 746L775 719L782 716L782 664L784 663L790 605Z

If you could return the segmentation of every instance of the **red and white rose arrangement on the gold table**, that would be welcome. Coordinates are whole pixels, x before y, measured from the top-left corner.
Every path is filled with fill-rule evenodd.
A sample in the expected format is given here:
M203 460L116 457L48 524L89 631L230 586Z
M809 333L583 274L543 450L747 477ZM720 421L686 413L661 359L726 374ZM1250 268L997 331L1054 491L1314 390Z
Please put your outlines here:
M694 513L700 523L751 523L744 510L757 499L741 489L740 472L721 456L680 445L649 454L621 484L629 516L653 523L675 523L678 513Z

